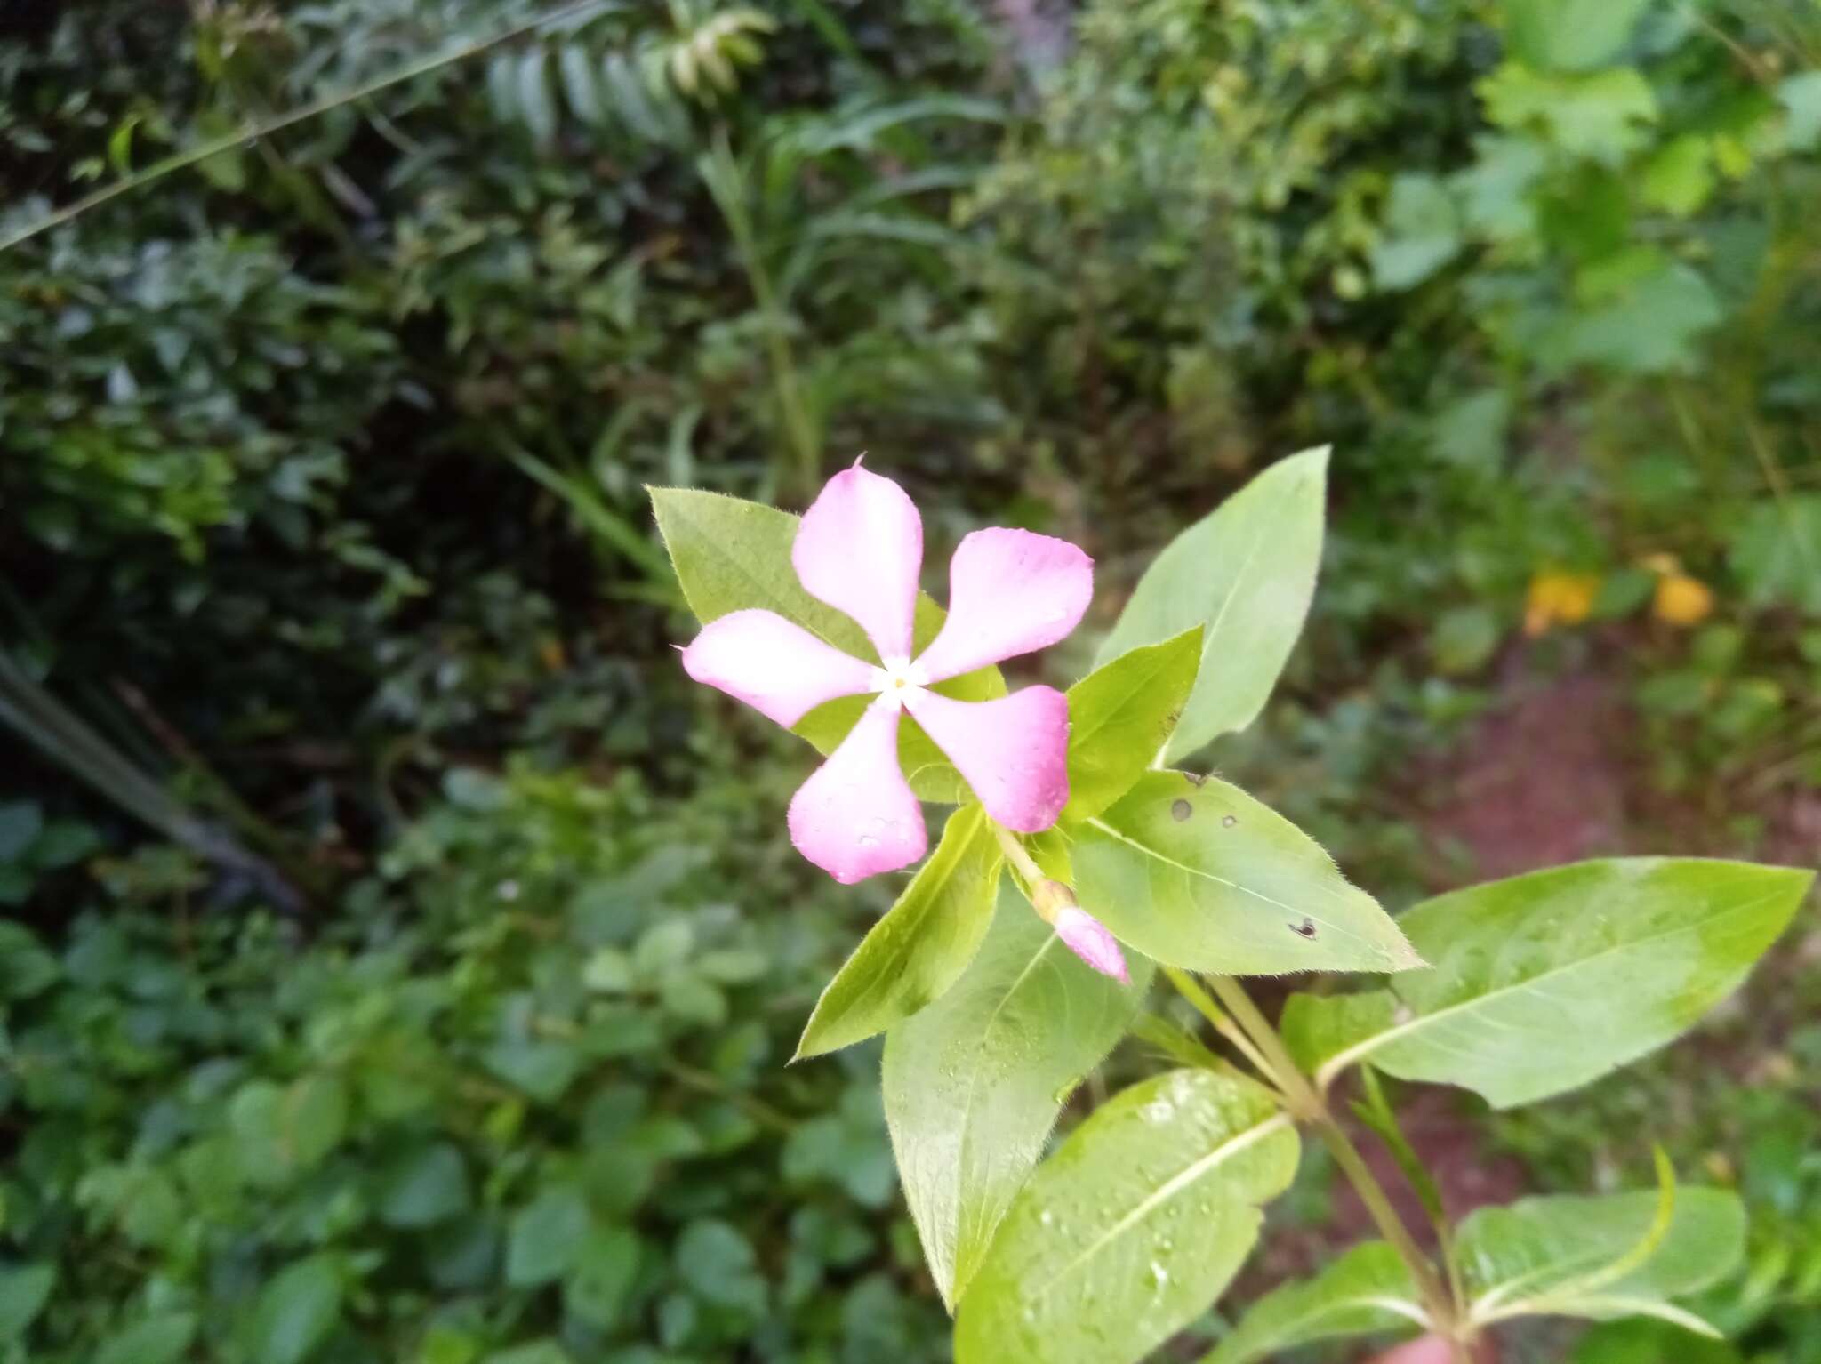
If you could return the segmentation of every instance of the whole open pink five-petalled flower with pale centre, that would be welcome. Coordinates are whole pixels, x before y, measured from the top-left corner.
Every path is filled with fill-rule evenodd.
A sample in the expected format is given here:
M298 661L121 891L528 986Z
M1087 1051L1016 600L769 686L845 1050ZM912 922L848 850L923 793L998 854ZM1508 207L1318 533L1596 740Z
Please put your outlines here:
M878 663L774 612L738 610L703 626L683 668L787 727L838 696L878 696L790 799L798 852L841 883L923 856L923 810L898 767L903 710L1002 825L1034 834L1056 823L1069 803L1062 692L1027 687L996 701L954 701L931 687L1067 636L1093 595L1093 559L1029 530L965 535L949 563L949 619L912 657L923 521L903 488L856 463L803 514L790 563L812 597L867 632Z

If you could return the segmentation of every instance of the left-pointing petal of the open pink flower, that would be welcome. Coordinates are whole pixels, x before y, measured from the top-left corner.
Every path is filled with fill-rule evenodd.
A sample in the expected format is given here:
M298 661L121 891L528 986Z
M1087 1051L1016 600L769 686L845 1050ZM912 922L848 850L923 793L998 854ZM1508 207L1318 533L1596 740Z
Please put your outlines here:
M872 690L872 667L768 610L708 621L683 650L683 670L790 727L838 696Z

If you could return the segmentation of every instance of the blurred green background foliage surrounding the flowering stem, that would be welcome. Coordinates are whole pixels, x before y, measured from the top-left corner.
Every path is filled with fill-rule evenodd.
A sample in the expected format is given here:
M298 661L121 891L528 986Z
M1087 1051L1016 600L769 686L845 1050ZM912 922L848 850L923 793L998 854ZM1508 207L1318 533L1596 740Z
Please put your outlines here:
M539 7L31 13L0 229ZM1309 645L1220 761L1351 872L1471 874L1420 770L1511 659L1615 679L1714 850L1812 809L1814 0L987 13L603 5L0 253L0 641L331 887L266 916L16 769L0 1359L934 1357L870 1067L783 1069L880 905L781 843L803 754L683 690L646 481L799 503L867 450L932 543L1087 545L1111 621L1333 443ZM1584 619L1517 643L1564 574ZM1648 1087L1717 1124L1712 1311L1779 1364L1814 1115L1717 1071L1805 1038ZM1493 1131L1597 1187L1661 1125L1612 1093Z

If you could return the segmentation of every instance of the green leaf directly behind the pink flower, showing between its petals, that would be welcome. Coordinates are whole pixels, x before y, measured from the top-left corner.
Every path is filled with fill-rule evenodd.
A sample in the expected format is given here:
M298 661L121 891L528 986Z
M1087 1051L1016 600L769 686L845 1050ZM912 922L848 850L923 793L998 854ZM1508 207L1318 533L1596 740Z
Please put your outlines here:
M736 610L770 610L845 654L874 657L872 645L854 621L816 601L798 583L790 566L798 517L716 492L650 488L650 495L683 599L697 621L707 625ZM934 601L918 597L920 650L936 637L943 619ZM1005 679L998 668L982 668L938 683L934 690L961 701L989 701L1005 696ZM849 696L819 705L798 721L794 734L819 752L832 752L869 701ZM971 798L961 774L909 716L898 727L898 761L920 799L961 805Z

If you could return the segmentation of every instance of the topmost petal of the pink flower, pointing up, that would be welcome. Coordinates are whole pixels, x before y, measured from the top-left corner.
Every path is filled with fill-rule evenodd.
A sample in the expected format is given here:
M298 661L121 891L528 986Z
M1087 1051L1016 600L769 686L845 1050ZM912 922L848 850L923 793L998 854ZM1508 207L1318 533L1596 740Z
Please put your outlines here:
M910 659L923 521L903 488L841 470L803 514L790 563L812 597L860 621L881 663Z

